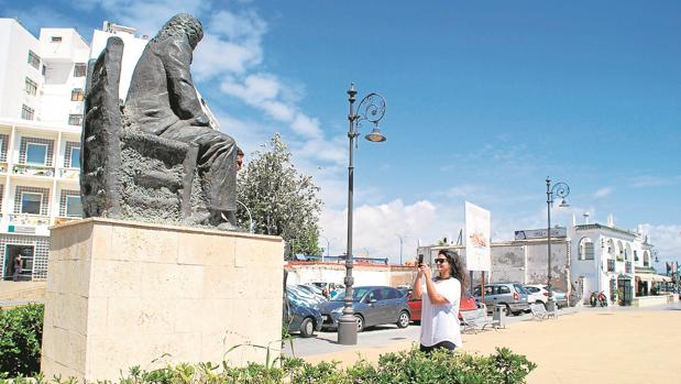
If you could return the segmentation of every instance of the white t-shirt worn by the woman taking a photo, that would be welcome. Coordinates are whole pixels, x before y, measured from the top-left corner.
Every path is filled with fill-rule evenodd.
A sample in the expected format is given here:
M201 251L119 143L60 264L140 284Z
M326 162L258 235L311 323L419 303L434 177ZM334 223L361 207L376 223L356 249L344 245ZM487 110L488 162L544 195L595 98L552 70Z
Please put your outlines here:
M459 326L459 304L461 303L461 283L450 277L436 281L433 285L438 294L449 303L433 305L428 297L426 282L421 284L421 344L432 347L442 341L451 341L457 347L462 347L461 330Z

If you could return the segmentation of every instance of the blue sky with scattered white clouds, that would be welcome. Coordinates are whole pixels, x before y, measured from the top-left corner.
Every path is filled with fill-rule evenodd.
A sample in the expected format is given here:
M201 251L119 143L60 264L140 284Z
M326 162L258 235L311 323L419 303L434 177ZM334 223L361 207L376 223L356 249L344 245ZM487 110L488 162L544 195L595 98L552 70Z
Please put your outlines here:
M1 17L155 35L204 23L193 74L249 155L279 132L325 202L320 246L345 251L348 95L384 97L384 143L354 156L354 254L398 262L458 237L464 201L493 240L543 228L546 182L570 186L552 223L649 234L681 261L681 2L0 0ZM359 101L358 100L358 101ZM363 124L362 133L371 131ZM362 138L362 136L361 136Z

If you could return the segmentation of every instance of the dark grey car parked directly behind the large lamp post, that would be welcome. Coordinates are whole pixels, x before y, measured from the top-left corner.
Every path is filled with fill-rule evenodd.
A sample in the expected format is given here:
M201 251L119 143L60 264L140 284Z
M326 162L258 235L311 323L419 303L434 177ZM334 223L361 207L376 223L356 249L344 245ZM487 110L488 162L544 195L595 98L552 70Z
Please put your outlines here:
M343 311L345 292L337 294L320 307L322 329L338 329L338 320ZM358 321L358 331L366 327L395 323L398 328L409 326L409 306L407 298L397 289L388 286L353 287L352 308Z

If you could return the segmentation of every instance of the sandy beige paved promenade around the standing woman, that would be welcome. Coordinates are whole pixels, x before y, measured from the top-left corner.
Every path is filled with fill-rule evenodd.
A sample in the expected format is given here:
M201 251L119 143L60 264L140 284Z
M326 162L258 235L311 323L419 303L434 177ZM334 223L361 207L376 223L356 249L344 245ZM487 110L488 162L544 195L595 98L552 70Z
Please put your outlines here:
M584 308L556 320L523 321L498 331L464 334L463 352L490 354L508 347L538 364L530 384L674 383L681 374L681 306L661 308ZM404 340L305 356L311 363L361 355L376 362L383 353L411 347ZM675 377L675 378L672 378Z

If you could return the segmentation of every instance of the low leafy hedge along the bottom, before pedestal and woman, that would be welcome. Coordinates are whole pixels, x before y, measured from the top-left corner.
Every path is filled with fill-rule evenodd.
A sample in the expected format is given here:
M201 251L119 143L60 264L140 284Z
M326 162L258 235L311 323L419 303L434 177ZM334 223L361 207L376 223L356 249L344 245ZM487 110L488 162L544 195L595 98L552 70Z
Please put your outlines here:
M276 365L276 366L275 366ZM536 367L525 356L508 349L497 349L488 356L436 351L430 356L417 349L387 353L377 364L365 360L348 369L338 362L306 363L303 359L283 359L273 365L251 363L245 367L227 364L179 364L155 371L130 370L120 384L519 384ZM29 383L15 378L13 384ZM36 383L78 384L76 378L45 381L41 375ZM10 384L0 380L0 384Z

